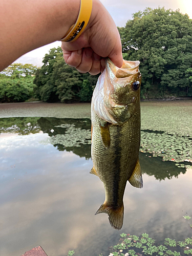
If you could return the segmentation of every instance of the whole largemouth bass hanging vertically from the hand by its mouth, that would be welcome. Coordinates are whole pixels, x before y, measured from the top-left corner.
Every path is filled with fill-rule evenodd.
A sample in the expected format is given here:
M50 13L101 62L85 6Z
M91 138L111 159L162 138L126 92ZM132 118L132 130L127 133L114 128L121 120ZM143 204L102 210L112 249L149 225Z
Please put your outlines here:
M140 88L139 61L123 60L118 68L107 58L91 102L90 173L104 184L105 201L96 214L106 213L115 229L123 225L126 182L142 188L139 163Z

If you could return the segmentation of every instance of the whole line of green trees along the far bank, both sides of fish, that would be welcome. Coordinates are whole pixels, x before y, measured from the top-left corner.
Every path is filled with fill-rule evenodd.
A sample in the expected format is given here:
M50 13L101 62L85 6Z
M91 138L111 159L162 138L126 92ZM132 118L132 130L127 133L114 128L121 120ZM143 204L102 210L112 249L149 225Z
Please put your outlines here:
M118 28L125 60L139 60L141 98L192 97L192 20L179 10L146 8ZM48 102L91 101L98 75L68 66L61 48L40 69L13 64L0 74L0 102L31 97Z

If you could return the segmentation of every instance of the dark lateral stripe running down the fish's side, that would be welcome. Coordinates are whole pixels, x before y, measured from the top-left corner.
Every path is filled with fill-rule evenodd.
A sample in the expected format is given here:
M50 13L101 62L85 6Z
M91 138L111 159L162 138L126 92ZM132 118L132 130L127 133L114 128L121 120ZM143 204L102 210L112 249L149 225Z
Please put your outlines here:
M120 147L120 139L121 139L121 133L120 129L121 127L116 125L116 135L115 135L115 175L113 180L113 202L114 206L118 205L118 198L119 198L119 182L120 182L120 155L121 155L121 147Z

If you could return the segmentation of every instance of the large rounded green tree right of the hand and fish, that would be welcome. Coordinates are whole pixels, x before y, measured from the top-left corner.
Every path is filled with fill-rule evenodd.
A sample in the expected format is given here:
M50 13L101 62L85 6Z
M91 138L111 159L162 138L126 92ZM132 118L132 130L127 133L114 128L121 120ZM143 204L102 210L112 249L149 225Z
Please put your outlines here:
M139 60L141 96L189 96L192 67L192 20L179 10L146 8L118 28L124 59Z

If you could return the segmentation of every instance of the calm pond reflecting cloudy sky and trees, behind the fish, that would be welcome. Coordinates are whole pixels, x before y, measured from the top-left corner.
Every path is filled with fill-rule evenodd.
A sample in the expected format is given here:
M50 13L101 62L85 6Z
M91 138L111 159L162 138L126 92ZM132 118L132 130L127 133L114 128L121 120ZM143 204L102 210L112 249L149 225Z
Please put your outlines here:
M106 214L94 215L105 195L99 178L89 174L93 167L89 111L87 118L69 118L71 113L65 118L39 117L40 113L32 115L33 110L28 113L31 117L2 116L0 255L19 256L40 245L48 256L65 256L69 250L80 256L106 256L122 232L136 236L146 232L157 243L167 237L180 241L191 237L192 221L183 218L192 217L191 125L183 128L177 121L177 130L173 126L163 130L162 123L157 125L159 116L167 108L171 113L179 108L163 103L161 113L153 112L154 121L148 124L150 109L159 111L160 106L142 103L146 123L139 158L144 186L138 189L127 183L121 230L110 226ZM25 104L22 108L27 109ZM51 109L48 113L52 116ZM186 114L183 109L179 113ZM187 113L186 123L192 118Z

